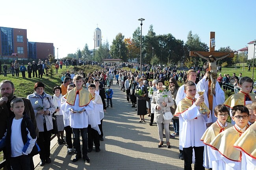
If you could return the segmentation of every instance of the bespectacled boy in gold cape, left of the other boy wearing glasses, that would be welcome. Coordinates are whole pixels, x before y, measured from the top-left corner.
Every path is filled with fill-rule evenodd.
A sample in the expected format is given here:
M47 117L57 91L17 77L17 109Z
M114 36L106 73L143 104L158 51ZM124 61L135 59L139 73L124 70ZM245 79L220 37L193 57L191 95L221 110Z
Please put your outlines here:
M204 161L204 167L218 169L217 164L218 160L214 159L213 154L211 153L211 147L209 146L211 141L219 135L219 133L223 132L225 129L228 129L229 127L232 127L233 125L226 122L228 119L228 109L225 105L217 105L214 108L214 116L217 118L217 121L214 122L206 131L204 132L204 135L201 137L201 140L206 144L205 149L207 152L204 154L204 160L209 160L209 162ZM206 164L207 163L207 164Z

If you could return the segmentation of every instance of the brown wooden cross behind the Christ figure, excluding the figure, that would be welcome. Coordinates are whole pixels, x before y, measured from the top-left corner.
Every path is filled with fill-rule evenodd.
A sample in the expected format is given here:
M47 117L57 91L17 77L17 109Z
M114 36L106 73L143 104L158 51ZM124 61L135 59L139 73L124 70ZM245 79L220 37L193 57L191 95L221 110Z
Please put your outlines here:
M214 57L217 58L217 57L223 57L224 55L228 55L228 54L230 54L228 57L234 57L234 52L215 52L215 32L210 32L210 52L191 51L189 55L198 57L198 55L196 55L195 52L203 55L204 57L209 57L210 55L213 55ZM209 71L210 70L211 68L209 66ZM210 79L209 79L208 87L211 87ZM211 93L211 88L208 89L208 102L209 102L209 109L212 112L213 96L211 96L210 93Z

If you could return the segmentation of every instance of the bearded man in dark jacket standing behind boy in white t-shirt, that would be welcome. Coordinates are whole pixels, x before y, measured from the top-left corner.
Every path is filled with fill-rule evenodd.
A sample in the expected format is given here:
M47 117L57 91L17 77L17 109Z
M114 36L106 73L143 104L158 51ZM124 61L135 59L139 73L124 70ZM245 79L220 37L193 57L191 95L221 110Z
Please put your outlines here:
M16 96L13 95L15 88L13 85L13 82L9 81L9 80L3 80L0 82L0 90L1 90L1 98L0 98L0 115L1 115L1 119L0 119L0 139L2 139L2 137L4 136L4 133L6 132L6 128L7 128L7 120L9 120L9 118L14 116L14 113L11 111L11 101L16 98ZM38 129L37 129L37 122L35 120L35 114L34 114L34 110L33 107L30 103L30 100L26 99L26 98L21 98L24 102L24 106L25 106L25 110L24 113L26 114L26 116L28 116L34 126L35 129L35 133L38 137ZM4 154L6 153L5 148L3 149ZM7 169L11 170L11 166L10 166L10 162L9 160L6 160L6 164L7 164ZM30 169L33 170L34 169L34 163L33 163L33 157L31 157L31 164L30 164Z

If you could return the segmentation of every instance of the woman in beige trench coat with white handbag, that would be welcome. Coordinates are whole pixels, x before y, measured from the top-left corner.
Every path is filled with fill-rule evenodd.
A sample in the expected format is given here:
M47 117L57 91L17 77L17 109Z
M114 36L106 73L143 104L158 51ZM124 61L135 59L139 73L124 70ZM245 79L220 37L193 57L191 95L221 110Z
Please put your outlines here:
M172 94L169 91L168 88L164 85L164 81L162 79L158 80L156 83L158 87L158 91L154 92L152 97L152 108L155 109L154 112L154 121L156 122L158 126L158 135L159 135L159 144L158 148L160 148L163 145L163 128L165 129L166 134L166 147L171 148L170 142L169 142L169 124L171 120L164 120L163 114L165 112L171 111L171 108L174 105Z

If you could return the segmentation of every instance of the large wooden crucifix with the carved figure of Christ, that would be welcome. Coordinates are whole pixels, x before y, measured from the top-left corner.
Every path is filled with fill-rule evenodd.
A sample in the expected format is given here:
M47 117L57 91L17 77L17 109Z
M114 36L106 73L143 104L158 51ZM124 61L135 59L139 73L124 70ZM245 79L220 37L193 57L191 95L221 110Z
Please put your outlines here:
M215 92L215 84L217 81L217 61L220 59L224 59L225 57L234 57L234 52L215 52L215 32L210 32L210 52L199 52L199 51L191 51L189 53L190 56L199 56L203 59L209 61L208 68L208 102L209 109L212 112L213 105L213 91Z

